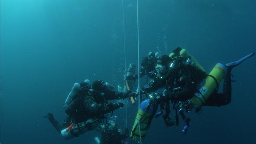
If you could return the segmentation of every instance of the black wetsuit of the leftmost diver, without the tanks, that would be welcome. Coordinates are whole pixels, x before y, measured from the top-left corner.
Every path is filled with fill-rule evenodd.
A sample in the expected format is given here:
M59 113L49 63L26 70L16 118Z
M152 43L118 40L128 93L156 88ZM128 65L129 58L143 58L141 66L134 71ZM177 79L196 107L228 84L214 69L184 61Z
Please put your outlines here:
M85 83L80 83L81 87L85 86ZM70 126L71 123L85 122L89 118L102 119L104 114L107 114L115 109L122 107L120 103L107 103L108 100L117 100L126 98L126 95L122 92L111 91L102 95L99 92L89 92L88 88L80 89L74 99L65 109L67 118L61 125L53 117L49 118L52 125L56 130L61 133L61 130Z

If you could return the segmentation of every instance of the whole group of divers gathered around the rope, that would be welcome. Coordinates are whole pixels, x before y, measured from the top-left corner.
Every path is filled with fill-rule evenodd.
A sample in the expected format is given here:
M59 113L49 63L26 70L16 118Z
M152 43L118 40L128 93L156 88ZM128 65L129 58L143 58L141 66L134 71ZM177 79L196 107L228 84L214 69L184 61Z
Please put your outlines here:
M135 65L130 64L126 68L123 90L115 90L112 85L102 80L91 83L86 79L84 82L74 83L65 101L67 118L64 123L59 124L51 113L44 117L50 120L66 140L96 129L101 133L101 138L95 137L96 144L128 144L128 129L122 132L113 120L116 116L111 115L111 120L106 116L113 114L113 111L124 104L120 101L108 101L128 98L134 104L134 99L139 97L141 103L130 133L133 140L144 140L152 119L158 116L163 117L166 126L178 126L180 115L184 122L181 132L186 134L190 119L184 113L192 110L198 113L202 106L220 107L229 104L231 82L236 80L231 71L253 55L254 52L225 65L217 63L207 74L186 49L176 48L170 55L150 52L142 59L139 75L135 75ZM132 92L133 82L143 76L147 76L146 84ZM219 93L219 83L222 79L223 92ZM174 118L170 116L170 103L175 112Z

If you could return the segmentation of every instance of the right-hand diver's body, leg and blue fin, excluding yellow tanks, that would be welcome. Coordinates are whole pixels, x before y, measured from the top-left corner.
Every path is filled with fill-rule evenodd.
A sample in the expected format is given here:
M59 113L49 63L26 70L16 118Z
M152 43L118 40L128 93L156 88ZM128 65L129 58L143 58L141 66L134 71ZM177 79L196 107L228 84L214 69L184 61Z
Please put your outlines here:
M186 101L194 96L198 87L208 75L200 68L189 64L191 62L187 61L187 59L178 55L181 50L181 48L174 50L176 57L173 59L168 55L160 57L156 65L156 72L152 74L155 77L154 83L151 87L143 90L148 93L165 87L165 96L163 96L162 99L176 102ZM224 77L223 93L218 93L218 91L215 90L204 105L221 106L231 102L231 82L233 78L231 70L254 54L255 53L252 53L238 61L224 65L227 72Z

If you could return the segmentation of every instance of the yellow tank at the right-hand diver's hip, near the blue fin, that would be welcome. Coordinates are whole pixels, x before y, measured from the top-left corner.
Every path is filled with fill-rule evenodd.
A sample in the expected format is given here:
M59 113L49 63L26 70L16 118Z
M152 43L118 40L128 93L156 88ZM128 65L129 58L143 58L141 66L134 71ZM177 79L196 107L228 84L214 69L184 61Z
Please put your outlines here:
M217 63L210 74L206 77L204 84L194 97L191 98L191 102L196 107L201 107L203 103L209 98L211 93L218 87L221 80L226 76L226 67L220 63Z

